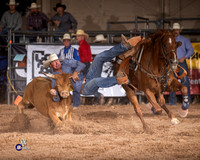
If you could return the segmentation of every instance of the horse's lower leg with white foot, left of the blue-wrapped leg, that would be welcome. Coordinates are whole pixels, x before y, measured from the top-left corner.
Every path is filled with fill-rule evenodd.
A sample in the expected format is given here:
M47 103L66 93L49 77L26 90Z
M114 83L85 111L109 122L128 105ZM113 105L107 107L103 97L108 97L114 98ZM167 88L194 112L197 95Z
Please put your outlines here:
M165 112L167 113L168 117L171 119L171 123L172 124L179 124L180 121L175 117L175 115L167 108L166 103L165 103L165 98L163 96L163 94L160 94L159 98L158 98L158 102L160 104L160 106L165 110Z

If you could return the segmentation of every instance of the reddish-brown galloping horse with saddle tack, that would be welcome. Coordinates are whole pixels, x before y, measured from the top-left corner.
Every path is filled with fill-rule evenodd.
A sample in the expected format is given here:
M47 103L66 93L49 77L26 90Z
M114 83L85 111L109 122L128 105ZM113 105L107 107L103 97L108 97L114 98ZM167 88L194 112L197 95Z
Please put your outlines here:
M131 39L128 41L131 44ZM133 104L136 114L142 121L144 130L148 129L148 126L143 119L136 91L131 86L135 86L144 92L152 104L155 113L161 114L162 107L171 118L172 124L179 123L174 114L166 107L162 93L164 91L180 90L183 95L187 95L187 87L183 86L173 75L178 63L176 49L181 44L181 42L175 41L175 37L171 32L159 30L150 36L149 39L144 40L143 54L140 62L137 60L133 61L133 57L128 57L123 60L120 67L118 65L118 73L124 72L128 75L131 85L126 84L122 86ZM137 70L131 67L133 63L137 64ZM155 95L158 96L159 104L157 103Z

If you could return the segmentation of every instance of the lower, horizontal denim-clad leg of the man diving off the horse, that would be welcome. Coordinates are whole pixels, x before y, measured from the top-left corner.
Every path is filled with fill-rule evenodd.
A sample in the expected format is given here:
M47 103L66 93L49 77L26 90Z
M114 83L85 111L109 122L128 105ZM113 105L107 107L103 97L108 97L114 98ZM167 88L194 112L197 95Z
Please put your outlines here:
M98 77L90 80L85 84L83 88L83 95L94 95L95 97L100 97L100 93L98 92L99 88L108 88L118 84L116 77Z

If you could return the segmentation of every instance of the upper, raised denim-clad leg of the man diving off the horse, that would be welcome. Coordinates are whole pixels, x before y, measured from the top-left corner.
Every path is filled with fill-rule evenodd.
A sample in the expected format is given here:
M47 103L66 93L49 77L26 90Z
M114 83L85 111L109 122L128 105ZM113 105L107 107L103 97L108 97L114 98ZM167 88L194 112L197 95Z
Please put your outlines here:
M103 68L104 62L109 62L111 59L113 59L116 56L119 56L120 54L127 51L127 48L122 44L115 45L109 50L103 51L99 53L92 62L89 71L86 75L86 83L87 81L101 77L101 72Z

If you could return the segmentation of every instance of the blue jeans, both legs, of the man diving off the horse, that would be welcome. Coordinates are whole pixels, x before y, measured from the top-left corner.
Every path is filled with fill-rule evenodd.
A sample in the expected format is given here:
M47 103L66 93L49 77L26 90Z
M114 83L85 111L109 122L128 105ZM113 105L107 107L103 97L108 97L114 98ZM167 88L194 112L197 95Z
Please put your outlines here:
M123 44L118 44L109 50L99 53L92 62L89 71L86 75L86 83L83 88L83 95L94 95L100 97L98 92L99 88L108 88L114 86L117 83L116 77L101 77L101 72L104 62L109 62L114 57L127 51L127 48Z

